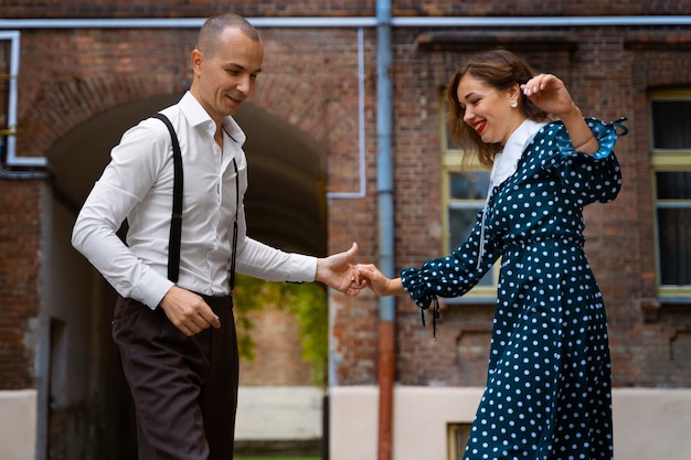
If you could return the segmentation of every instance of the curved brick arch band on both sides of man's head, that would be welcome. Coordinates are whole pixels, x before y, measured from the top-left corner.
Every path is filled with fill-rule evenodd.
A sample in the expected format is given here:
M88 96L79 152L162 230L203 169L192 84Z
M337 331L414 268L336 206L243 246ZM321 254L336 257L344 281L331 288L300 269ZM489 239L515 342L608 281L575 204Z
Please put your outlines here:
M305 73L315 74L302 69ZM46 88L18 124L20 156L43 157L65 133L111 107L160 94L182 92L170 78L140 74L75 77ZM263 75L252 101L274 113L326 147L330 184L348 189L357 178L339 184L338 173L355 173L359 149L357 104L346 107L319 82L284 73ZM30 135L29 135L30 133ZM322 159L325 160L325 159Z

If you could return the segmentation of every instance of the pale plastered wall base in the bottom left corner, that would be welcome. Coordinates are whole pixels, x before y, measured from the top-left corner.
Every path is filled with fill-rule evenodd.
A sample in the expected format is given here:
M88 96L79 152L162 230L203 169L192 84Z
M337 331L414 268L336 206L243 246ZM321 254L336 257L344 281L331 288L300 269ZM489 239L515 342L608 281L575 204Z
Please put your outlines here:
M36 391L0 391L0 459L34 460Z

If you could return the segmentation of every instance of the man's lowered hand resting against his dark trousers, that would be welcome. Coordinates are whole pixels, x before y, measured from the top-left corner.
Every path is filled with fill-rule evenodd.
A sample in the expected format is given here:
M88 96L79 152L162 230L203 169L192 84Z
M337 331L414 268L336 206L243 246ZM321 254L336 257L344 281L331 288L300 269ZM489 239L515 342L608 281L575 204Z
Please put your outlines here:
M221 321L204 299L187 289L173 286L160 303L166 315L187 336L200 333L210 325L221 328Z

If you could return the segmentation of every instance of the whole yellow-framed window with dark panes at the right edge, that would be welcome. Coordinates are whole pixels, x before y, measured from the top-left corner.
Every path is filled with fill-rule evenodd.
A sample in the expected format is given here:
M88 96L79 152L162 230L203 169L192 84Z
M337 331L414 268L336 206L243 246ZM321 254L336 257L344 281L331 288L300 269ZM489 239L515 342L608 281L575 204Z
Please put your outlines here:
M691 89L651 93L650 121L658 296L691 300Z

